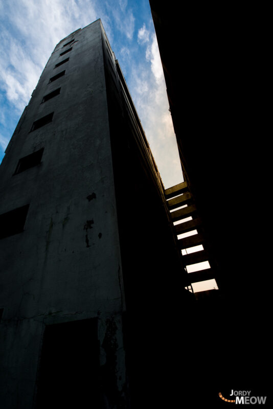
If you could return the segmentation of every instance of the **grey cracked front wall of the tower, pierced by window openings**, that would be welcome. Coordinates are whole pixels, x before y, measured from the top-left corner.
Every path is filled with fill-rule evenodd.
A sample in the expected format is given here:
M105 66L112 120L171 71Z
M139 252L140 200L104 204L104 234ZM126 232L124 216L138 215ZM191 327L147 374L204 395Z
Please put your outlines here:
M115 323L119 391L125 381L122 266L103 64L100 20L56 46L0 168L0 214L30 204L24 232L0 240L3 408L32 407L46 324L99 317L104 365L103 341L109 322ZM64 76L49 83L63 70ZM58 87L58 96L41 103ZM51 123L30 132L34 121L53 111ZM13 175L19 158L42 147L40 165Z

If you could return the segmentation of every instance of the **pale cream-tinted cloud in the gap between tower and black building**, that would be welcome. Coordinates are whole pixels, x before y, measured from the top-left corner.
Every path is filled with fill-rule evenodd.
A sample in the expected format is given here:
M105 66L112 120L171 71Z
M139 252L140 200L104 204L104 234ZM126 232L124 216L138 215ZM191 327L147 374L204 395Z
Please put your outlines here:
M132 67L129 89L165 188L180 183L183 175L155 34L146 42L146 61Z

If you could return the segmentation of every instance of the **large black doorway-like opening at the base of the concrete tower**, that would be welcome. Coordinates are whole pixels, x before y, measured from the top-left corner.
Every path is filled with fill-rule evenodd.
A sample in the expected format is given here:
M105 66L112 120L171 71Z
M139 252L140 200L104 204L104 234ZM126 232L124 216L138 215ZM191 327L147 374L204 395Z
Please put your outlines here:
M37 379L36 409L104 407L99 396L98 321L46 325Z

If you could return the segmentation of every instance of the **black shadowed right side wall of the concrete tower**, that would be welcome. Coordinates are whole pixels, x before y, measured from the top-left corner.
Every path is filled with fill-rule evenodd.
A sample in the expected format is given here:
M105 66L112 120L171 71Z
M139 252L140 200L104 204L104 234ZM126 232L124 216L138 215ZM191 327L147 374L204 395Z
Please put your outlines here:
M174 407L179 403L181 384L188 384L185 376L192 367L188 324L195 303L193 294L184 288L183 268L161 180L118 62L113 75L107 54L107 102L125 289L124 335L131 405Z

